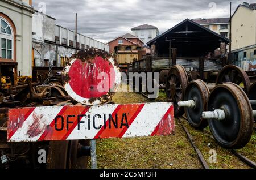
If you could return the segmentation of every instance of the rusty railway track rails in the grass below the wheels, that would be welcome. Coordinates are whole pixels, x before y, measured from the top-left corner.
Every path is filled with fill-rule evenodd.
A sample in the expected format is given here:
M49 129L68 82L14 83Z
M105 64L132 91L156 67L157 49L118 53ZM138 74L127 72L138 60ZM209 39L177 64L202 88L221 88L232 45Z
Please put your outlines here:
M186 117L183 116L182 118L185 119L186 121L188 121ZM202 155L201 151L196 147L195 142L193 142L192 135L189 134L187 128L186 128L186 127L183 125L183 123L181 122L181 118L178 117L177 119L179 119L180 125L182 126L183 130L184 130L185 133L187 134L187 136L188 136L188 138L189 138L189 142L191 142L191 144L192 144L193 148L195 148L195 150L197 149L197 150L196 150L196 153L197 153L197 155L198 155L198 157L199 157L199 159L200 159L201 164L203 165L203 168L204 168L204 169L208 169L207 166L205 166L205 162L206 162L206 161L205 161L204 157L201 156L201 155ZM203 131L205 132L205 135L207 135L209 138L213 139L213 140L216 142L216 139L214 139L213 136L210 135L210 134L211 134L210 131L205 130L205 129L204 129ZM243 161L246 165L250 166L251 168L256 169L256 163L255 163L254 161L252 161L252 160L250 160L249 158L243 156L241 153L237 152L235 149L231 149L231 152L232 152L232 154L233 154L234 156L238 157L238 158L239 158L241 161ZM204 162L204 163L203 163L203 162ZM207 162L206 162L206 163L207 163ZM207 165L208 165L208 164L207 164Z

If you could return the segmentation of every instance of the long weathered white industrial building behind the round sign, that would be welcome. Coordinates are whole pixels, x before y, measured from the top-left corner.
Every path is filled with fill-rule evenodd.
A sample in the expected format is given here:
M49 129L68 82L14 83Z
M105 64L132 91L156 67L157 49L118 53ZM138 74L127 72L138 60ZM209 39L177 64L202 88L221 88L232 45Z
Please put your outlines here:
M77 50L97 48L109 52L109 45L55 24L55 18L36 11L32 15L33 66L61 67ZM75 22L74 22L75 27ZM76 46L76 48L75 48Z

